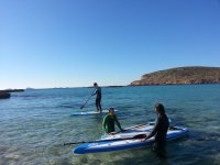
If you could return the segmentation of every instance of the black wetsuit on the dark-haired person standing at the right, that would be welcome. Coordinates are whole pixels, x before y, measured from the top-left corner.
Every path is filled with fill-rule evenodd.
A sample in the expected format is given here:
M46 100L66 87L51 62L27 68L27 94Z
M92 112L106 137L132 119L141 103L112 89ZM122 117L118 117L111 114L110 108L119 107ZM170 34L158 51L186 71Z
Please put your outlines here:
M166 114L158 114L153 131L151 132L151 134L147 135L147 139L155 135L153 150L157 153L158 156L164 156L164 151L166 146L166 133L168 127L169 121Z

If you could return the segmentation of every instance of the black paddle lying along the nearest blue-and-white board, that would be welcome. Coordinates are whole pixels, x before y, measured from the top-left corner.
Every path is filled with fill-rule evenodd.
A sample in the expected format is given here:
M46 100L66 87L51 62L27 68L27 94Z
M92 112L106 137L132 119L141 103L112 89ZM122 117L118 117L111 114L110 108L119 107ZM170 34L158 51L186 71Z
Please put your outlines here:
M138 134L132 138L125 138L125 139L111 139L111 140L99 140L99 141L90 141L90 142L74 142L74 143L64 143L64 145L72 145L72 144L81 144L81 143L96 143L96 142L110 142L110 141L124 141L124 140L136 140L136 139L144 139L146 138L146 134Z

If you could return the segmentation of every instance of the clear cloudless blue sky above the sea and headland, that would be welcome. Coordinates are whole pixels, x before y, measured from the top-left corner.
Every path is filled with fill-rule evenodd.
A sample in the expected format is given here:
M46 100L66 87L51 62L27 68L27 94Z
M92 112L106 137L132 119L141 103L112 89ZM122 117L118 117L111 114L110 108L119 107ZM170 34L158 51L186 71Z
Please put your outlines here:
M129 85L220 66L220 0L0 0L0 89Z

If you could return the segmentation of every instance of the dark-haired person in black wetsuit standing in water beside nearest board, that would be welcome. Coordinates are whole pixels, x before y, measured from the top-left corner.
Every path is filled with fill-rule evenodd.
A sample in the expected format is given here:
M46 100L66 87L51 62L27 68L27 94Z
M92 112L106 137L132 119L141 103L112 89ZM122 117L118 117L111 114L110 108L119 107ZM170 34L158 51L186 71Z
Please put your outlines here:
M155 106L155 112L157 113L156 123L154 125L153 131L148 135L146 135L144 140L151 139L155 135L153 151L157 154L158 157L166 158L166 133L169 127L169 121L165 113L164 106L162 103Z

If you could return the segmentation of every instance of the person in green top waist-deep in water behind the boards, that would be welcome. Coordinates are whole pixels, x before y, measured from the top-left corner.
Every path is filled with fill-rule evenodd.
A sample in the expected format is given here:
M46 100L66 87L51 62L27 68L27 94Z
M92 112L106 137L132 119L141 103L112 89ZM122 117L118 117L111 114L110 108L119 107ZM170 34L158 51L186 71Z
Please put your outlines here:
M107 134L111 134L111 132L114 132L114 122L117 123L117 125L119 127L119 129L121 131L123 131L123 129L121 128L121 124L117 118L117 114L114 113L114 108L110 108L109 109L109 113L103 119L103 130Z

